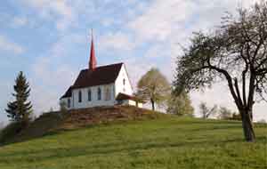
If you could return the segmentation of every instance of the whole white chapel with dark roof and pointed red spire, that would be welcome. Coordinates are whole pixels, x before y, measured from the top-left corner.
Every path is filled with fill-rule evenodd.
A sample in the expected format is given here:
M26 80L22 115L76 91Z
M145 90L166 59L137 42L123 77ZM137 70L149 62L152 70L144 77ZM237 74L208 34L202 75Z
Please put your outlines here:
M67 109L114 105L142 108L142 102L133 96L133 86L124 63L97 66L93 36L88 68L80 71L74 84L61 97L60 103Z

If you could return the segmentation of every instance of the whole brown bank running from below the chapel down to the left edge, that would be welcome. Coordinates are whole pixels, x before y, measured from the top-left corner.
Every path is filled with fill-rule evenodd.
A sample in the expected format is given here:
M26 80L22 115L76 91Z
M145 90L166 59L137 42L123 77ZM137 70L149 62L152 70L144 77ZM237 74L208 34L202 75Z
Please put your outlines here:
M75 109L65 113L44 113L20 133L6 138L5 143L28 141L59 130L76 129L88 125L126 122L131 120L155 119L165 114L139 109L133 106L97 107Z

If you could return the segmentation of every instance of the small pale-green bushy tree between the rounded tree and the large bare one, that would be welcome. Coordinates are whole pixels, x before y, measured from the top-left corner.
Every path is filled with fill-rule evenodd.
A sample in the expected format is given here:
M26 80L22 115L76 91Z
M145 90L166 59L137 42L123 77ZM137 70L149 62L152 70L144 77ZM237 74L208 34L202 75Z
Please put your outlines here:
M172 93L170 98L167 100L166 111L178 116L193 117L194 108L191 105L188 93L183 92L179 96Z

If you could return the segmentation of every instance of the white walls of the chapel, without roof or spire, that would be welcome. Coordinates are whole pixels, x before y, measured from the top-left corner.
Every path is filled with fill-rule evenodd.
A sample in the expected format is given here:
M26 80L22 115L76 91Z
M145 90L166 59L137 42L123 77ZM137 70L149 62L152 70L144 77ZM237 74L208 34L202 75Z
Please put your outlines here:
M118 93L133 95L133 87L124 64L114 83L73 89L71 97L62 98L61 102L65 102L67 109L113 106L117 104L116 98ZM136 106L135 101L128 101L127 104Z

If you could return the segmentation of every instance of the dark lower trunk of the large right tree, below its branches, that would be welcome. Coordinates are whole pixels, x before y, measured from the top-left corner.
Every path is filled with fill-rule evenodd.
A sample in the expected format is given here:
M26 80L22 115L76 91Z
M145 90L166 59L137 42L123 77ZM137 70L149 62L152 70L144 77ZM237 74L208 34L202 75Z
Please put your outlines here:
M240 115L242 117L242 126L244 136L247 142L254 142L255 141L255 132L253 128L253 122L251 119L252 112L250 111L240 111Z

